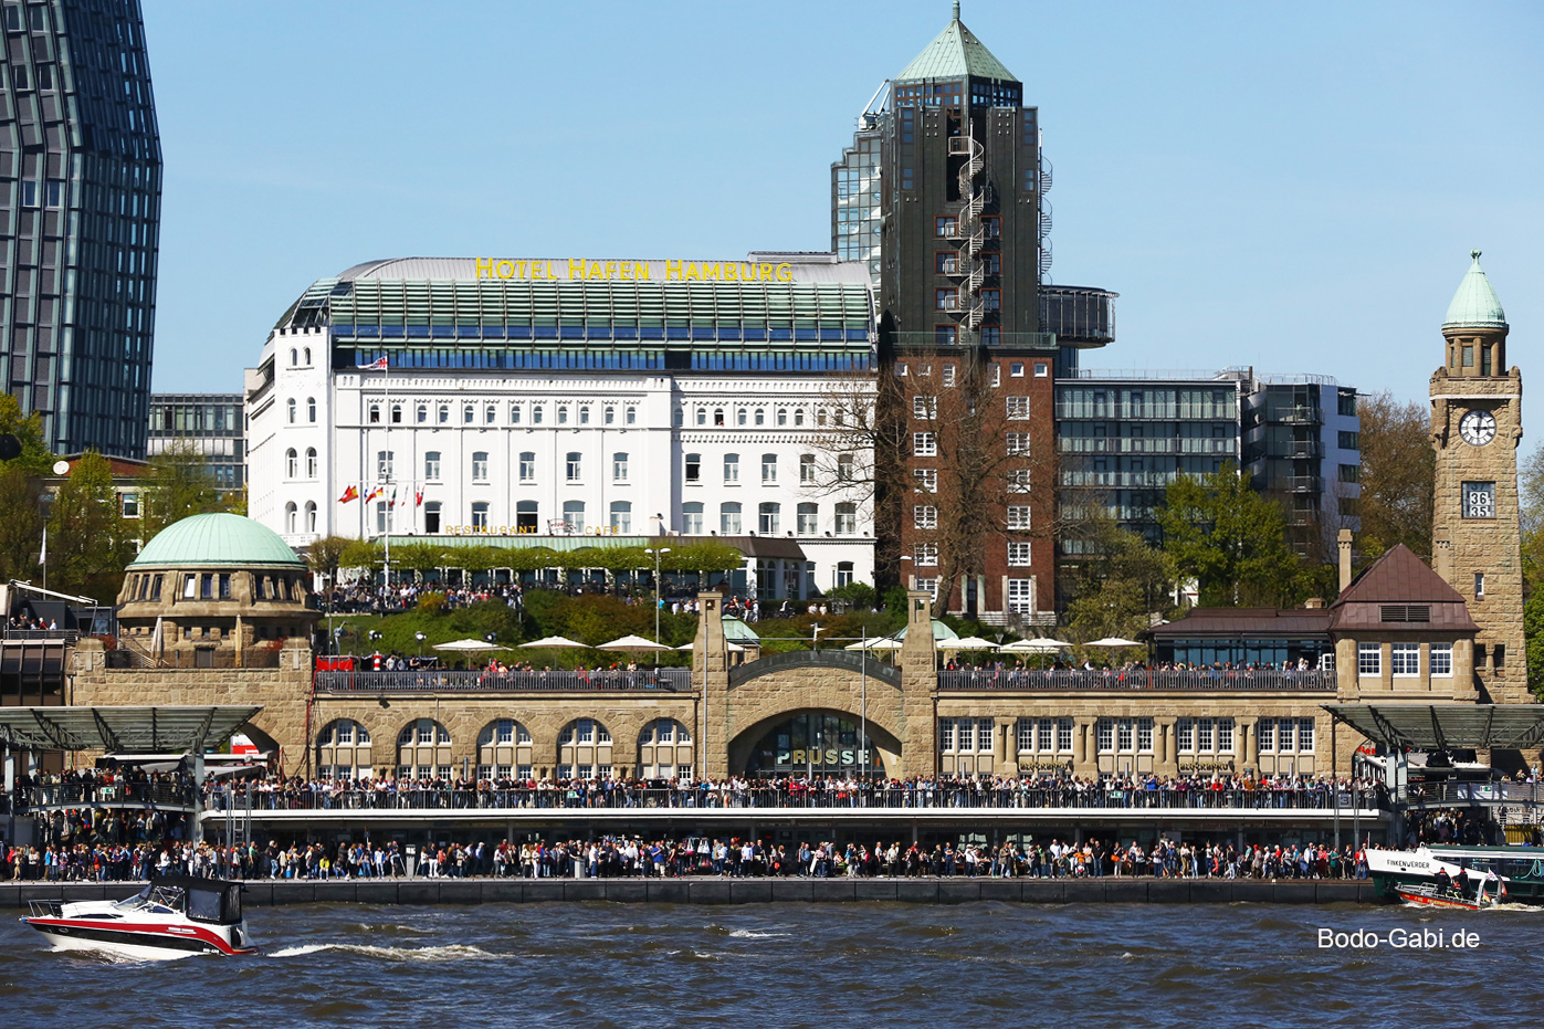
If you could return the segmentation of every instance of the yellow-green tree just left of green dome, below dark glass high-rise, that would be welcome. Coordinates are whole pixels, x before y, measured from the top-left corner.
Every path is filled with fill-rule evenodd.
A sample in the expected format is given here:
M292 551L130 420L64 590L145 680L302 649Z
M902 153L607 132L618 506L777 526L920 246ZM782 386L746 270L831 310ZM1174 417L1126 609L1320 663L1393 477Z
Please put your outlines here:
M54 494L48 513L48 584L99 601L117 596L134 556L130 525L119 516L113 468L86 451Z

